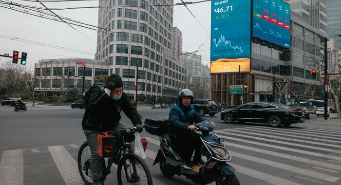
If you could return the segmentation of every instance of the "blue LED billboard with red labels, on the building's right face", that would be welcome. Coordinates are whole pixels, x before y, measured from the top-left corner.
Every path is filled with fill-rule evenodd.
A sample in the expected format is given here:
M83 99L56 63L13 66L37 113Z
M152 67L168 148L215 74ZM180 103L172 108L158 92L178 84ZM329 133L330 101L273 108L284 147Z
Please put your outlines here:
M290 48L290 5L282 0L253 0L253 37Z

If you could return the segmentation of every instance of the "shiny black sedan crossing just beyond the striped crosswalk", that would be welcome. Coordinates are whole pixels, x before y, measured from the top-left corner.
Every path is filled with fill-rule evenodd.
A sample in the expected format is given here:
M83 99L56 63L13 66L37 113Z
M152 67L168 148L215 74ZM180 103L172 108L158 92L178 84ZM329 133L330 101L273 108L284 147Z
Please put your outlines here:
M268 123L271 127L280 127L303 123L304 115L300 108L291 108L273 102L252 102L222 111L221 119L227 123L257 122Z

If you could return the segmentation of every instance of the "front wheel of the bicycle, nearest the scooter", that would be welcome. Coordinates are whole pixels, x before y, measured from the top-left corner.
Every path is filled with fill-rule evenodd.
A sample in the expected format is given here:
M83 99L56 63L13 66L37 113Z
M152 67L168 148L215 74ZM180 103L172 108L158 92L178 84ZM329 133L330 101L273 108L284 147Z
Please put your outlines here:
M125 165L127 174L125 172ZM127 180L129 179L129 180ZM128 153L117 167L118 185L152 185L152 175L146 163L137 155Z

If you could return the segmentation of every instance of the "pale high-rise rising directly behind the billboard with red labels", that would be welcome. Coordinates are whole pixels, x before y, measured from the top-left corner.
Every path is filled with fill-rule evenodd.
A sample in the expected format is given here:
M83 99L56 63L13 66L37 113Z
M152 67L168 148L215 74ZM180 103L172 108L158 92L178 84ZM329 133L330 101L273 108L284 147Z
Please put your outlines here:
M284 0L291 11L321 31L327 31L327 0ZM338 0L335 0L338 1Z

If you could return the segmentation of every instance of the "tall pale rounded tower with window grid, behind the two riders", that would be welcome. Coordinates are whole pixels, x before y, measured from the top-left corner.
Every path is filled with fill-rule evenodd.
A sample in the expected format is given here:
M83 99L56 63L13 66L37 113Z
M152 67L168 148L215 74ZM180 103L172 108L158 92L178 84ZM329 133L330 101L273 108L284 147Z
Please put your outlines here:
M122 76L124 91L130 96L134 95L136 76L147 101L165 94L175 98L176 92L185 87L185 66L171 55L173 7L150 6L172 3L99 1L98 27L106 30L97 32L95 58L108 61L110 70Z

